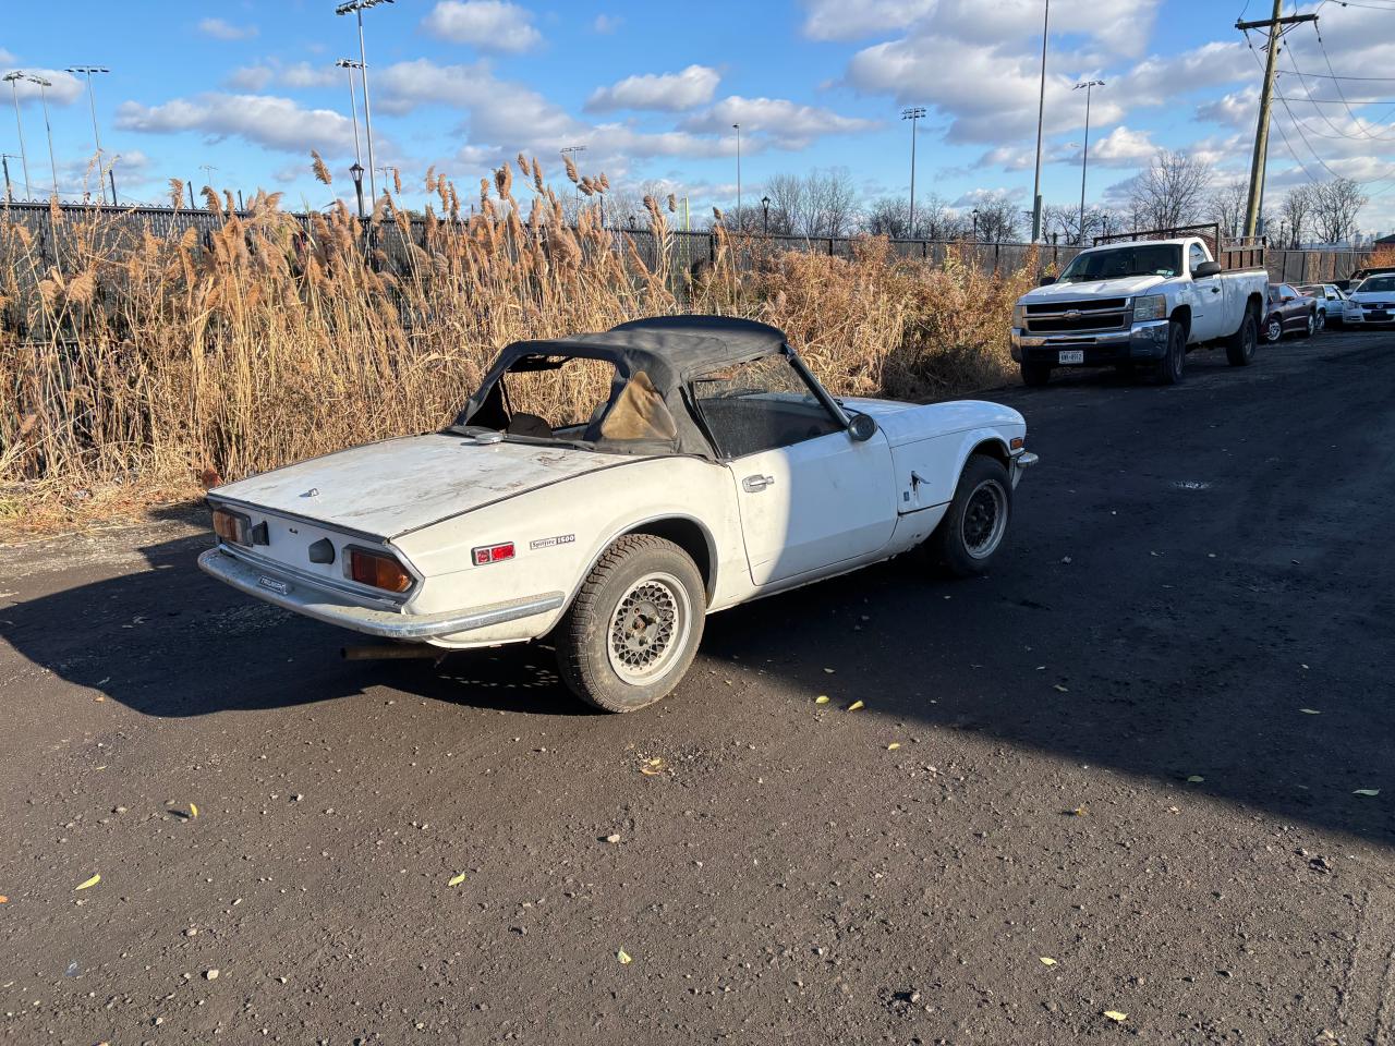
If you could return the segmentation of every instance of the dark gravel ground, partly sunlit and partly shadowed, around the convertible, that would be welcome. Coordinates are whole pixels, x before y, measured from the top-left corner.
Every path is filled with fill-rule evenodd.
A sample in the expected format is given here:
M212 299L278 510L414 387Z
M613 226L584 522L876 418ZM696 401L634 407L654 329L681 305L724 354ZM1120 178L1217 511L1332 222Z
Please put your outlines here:
M201 516L0 548L0 1039L1389 1046L1392 353L1003 389L990 577L720 614L628 717L343 662Z

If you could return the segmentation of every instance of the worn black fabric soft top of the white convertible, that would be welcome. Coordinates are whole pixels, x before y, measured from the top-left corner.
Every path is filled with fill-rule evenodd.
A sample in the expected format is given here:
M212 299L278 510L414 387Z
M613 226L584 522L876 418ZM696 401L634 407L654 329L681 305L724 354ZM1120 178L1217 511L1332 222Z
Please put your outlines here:
M513 342L499 353L465 404L456 424L480 414L509 370L547 370L552 358L604 360L615 367L611 403L636 374L643 374L674 418L677 437L668 453L713 457L706 434L688 409L685 386L695 377L738 363L788 351L783 331L735 317L675 315L632 319L598 333ZM530 363L534 364L530 367ZM497 395L497 393L495 393ZM492 414L485 410L480 417Z

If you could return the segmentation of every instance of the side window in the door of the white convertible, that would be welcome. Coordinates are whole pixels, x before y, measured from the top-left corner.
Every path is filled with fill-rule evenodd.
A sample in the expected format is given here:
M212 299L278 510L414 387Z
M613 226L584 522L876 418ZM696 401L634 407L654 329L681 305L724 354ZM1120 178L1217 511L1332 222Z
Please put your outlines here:
M784 356L702 375L692 391L724 457L792 446L843 428Z

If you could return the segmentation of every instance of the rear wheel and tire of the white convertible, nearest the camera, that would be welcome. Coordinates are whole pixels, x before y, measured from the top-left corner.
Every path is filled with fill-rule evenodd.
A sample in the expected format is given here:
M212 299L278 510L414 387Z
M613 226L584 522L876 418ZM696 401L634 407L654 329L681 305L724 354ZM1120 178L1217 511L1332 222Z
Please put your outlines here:
M562 682L605 711L653 704L698 654L706 605L702 575L678 545L653 534L619 538L554 632Z

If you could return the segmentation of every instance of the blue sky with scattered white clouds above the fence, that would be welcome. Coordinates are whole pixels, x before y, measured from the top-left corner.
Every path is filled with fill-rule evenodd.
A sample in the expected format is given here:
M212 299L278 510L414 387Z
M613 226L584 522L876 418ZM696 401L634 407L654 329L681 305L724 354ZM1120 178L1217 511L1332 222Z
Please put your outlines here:
M1281 60L1271 194L1332 172L1366 183L1367 230L1395 227L1395 0L1317 7ZM357 59L352 17L333 0L172 4L67 0L14 6L0 29L0 70L47 77L59 181L80 192L93 152L78 63L96 78L103 146L119 155L123 198L160 199L169 177L287 204L325 205L352 191L346 74ZM1262 0L1056 0L1048 60L1043 195L1080 194L1084 92L1092 201L1115 201L1161 146L1202 155L1218 181L1249 170L1258 50L1233 28ZM1314 10L1313 4L1302 10ZM60 11L61 14L56 14ZM847 167L868 198L904 194L907 105L929 110L918 137L918 195L972 206L1009 194L1030 206L1041 0L795 0L654 4L633 0L398 0L365 13L377 163L400 167L409 202L428 166L462 195L519 151L561 180L557 151L585 145L583 172L619 191L688 194L693 211L730 208L742 124L748 206L773 174ZM1260 39L1253 38L1258 46ZM50 187L36 89L21 81L31 181ZM1385 105L1364 105L1370 99ZM361 106L361 98L360 98ZM361 110L360 110L361 117ZM314 181L310 149L335 172ZM0 149L18 153L0 88ZM367 163L367 158L364 160ZM11 177L22 183L18 160ZM379 187L382 179L379 179ZM95 191L95 190L93 190Z

